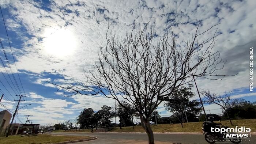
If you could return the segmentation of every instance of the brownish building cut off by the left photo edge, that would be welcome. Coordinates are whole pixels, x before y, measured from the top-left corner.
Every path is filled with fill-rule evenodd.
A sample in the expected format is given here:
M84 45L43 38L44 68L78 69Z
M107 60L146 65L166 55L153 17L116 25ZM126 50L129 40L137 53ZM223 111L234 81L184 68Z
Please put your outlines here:
M8 110L0 111L0 136L4 136L7 132L11 118L12 114Z

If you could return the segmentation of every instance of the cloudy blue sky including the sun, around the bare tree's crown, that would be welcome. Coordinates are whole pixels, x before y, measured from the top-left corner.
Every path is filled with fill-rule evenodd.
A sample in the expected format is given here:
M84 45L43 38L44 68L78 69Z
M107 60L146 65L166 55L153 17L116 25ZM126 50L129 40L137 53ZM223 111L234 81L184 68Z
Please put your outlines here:
M97 111L103 105L114 106L114 100L101 95L65 97L47 83L83 81L83 69L93 70L97 49L105 44L110 24L118 37L135 24L150 23L157 35L172 28L179 39L191 38L198 22L199 31L218 24L206 37L217 30L214 50L219 50L220 58L226 61L220 73L238 74L221 81L198 78L197 86L256 101L256 88L249 91L249 53L256 46L254 0L0 0L0 5L4 17L3 21L0 16L0 38L10 64L0 49L4 64L0 62L1 104L13 113L17 105L14 99L19 98L15 95L26 95L20 102L16 123L24 123L25 115L33 115L33 123L56 124L75 119L84 108ZM196 95L193 99L198 98ZM0 110L4 106L0 105ZM205 105L205 109L207 114L221 114L217 105ZM170 116L163 103L158 111L162 117Z

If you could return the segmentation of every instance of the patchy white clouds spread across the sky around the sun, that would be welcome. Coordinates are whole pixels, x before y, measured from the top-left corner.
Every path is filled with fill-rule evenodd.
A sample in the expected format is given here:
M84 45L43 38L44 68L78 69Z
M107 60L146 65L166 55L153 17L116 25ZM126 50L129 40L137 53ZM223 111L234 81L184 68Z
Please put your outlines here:
M225 69L220 73L239 74L226 77L222 81L199 78L196 80L198 87L218 94L234 89L248 88L248 50L256 43L256 19L254 18L256 3L252 0L229 3L211 0L190 2L86 0L79 1L80 5L75 4L78 3L77 1L54 0L54 4L47 5L50 10L41 8L42 2L2 0L1 3L1 6L12 15L10 18L6 18L8 29L15 31L18 36L20 35L20 40L24 41L19 53L15 53L19 71L25 70L34 75L44 75L44 77L47 76L47 73L64 77L64 79L55 80L52 77L40 77L34 83L56 88L45 81L53 80L64 84L72 83L72 80L81 82L83 69L93 70L92 64L97 58L98 45L99 43L105 44L109 23L112 23L111 29L116 31L118 36L131 30L133 23L139 26L150 21L158 35L161 35L166 27L173 26L174 32L178 33L182 40L191 38L191 32L195 31L194 23L202 20L202 27L199 30L201 32L220 23L218 32L222 34L218 36L214 50L219 49L221 58L227 59ZM20 27L25 31L20 31ZM45 53L44 49L45 30L60 27L71 31L76 39L76 51L64 58L56 57L56 53ZM231 31L234 32L230 33ZM210 37L212 32L207 33L205 37ZM27 34L30 37L24 37ZM4 72L3 67L0 69ZM55 94L62 95L61 93ZM254 93L234 97L245 95L254 95ZM36 99L43 97L35 95L35 93L31 93L30 96ZM64 109L70 105L72 105L72 109L92 107L94 110L98 110L102 105L111 106L114 103L112 99L101 96L72 96L72 98L78 103L77 105L60 99L56 101L43 99L40 102L42 104L41 112L49 110L48 112L52 113L56 108L56 111L62 110L63 113L69 113ZM51 105L57 105L57 107ZM159 110L163 110L163 108ZM42 120L46 119L42 118Z

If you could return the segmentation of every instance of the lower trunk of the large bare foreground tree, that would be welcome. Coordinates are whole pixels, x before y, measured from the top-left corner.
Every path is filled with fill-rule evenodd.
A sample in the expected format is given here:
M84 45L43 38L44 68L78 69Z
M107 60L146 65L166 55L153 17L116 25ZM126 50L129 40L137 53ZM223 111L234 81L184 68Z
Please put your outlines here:
M155 144L154 133L153 133L153 130L151 129L151 127L150 127L149 120L146 120L142 116L140 116L140 123L141 123L142 127L144 128L144 130L147 133L148 144Z

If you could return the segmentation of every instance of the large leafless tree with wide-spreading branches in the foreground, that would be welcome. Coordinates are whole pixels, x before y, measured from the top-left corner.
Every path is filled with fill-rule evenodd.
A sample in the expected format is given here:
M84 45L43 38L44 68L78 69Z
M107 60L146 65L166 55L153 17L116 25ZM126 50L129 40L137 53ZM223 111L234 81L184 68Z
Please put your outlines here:
M225 76L214 74L225 64L218 60L219 52L212 50L216 31L212 37L204 38L214 26L198 33L199 25L192 39L181 44L177 44L177 35L172 29L157 36L147 24L121 38L107 32L107 44L98 49L95 70L84 71L85 82L55 85L69 91L70 95L101 94L116 99L120 105L125 99L138 111L148 144L154 144L150 115L175 88L191 82L193 76L218 76L215 79Z

